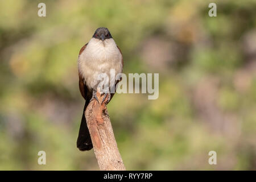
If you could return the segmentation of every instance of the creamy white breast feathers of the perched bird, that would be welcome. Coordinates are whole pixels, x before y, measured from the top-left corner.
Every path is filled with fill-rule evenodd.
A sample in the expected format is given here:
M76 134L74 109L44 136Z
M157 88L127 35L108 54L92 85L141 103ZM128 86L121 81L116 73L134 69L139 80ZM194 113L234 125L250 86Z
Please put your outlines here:
M113 39L102 42L92 38L79 56L78 64L86 85L94 88L100 73L106 73L110 78L110 69L115 70L115 75L122 72L122 55Z

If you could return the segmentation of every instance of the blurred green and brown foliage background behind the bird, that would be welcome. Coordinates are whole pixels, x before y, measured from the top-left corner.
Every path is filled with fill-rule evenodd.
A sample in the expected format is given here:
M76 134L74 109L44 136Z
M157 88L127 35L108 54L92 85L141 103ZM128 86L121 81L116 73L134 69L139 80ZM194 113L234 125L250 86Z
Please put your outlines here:
M256 1L214 1L217 17L210 2L1 0L0 169L98 170L93 150L76 148L77 56L108 27L125 73L159 73L158 100L108 105L127 169L255 170Z

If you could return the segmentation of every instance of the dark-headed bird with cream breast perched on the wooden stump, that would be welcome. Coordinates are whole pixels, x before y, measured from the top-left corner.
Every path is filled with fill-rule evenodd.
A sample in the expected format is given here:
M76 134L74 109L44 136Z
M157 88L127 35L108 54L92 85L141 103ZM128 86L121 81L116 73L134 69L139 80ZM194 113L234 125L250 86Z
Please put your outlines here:
M93 99L98 101L96 96L99 84L98 75L105 73L110 78L110 69L114 69L115 74L122 73L123 56L121 49L115 44L108 28L100 27L94 32L89 42L80 49L77 62L79 89L82 97L85 99L79 136L77 138L77 148L80 151L87 151L93 148L93 144L86 124L85 110L90 101ZM115 81L115 86L120 80ZM106 103L108 104L113 96L114 93L104 93L103 100L108 97Z

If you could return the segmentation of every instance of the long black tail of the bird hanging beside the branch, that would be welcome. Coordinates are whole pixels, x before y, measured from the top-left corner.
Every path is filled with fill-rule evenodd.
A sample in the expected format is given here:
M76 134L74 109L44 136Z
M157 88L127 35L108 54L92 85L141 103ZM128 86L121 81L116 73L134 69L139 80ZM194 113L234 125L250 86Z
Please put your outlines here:
M92 145L92 140L90 139L90 133L87 127L87 123L85 120L85 109L89 104L89 100L86 100L85 105L84 105L84 111L82 112L82 120L81 120L81 125L79 129L79 137L77 138L77 148L79 148L80 151L85 151L85 150L91 150L93 148Z

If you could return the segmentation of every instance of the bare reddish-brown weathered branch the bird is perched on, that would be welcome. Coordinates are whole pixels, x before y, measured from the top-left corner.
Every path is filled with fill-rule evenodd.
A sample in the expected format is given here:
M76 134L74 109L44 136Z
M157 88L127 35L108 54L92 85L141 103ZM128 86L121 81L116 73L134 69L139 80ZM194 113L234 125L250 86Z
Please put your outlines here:
M98 165L103 171L124 171L125 166L118 151L105 101L101 105L103 96L99 92L97 98L100 104L92 100L85 110L85 118Z

